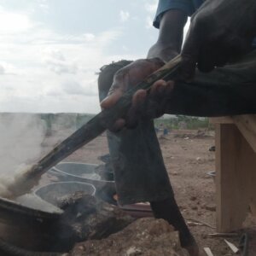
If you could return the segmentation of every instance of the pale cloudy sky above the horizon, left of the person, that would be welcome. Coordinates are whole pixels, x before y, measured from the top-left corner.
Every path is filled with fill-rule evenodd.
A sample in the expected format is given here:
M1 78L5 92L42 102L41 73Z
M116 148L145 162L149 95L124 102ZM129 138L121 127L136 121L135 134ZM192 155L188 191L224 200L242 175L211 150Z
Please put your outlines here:
M147 55L157 2L0 0L0 112L99 112L96 73Z

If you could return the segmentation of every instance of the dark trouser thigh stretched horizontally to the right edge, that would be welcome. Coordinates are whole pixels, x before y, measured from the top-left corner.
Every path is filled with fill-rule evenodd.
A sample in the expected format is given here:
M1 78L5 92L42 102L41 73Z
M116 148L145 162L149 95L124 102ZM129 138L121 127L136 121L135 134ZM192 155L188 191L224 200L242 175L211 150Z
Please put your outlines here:
M256 113L256 50L211 73L196 71L191 83L177 81L169 113L224 116Z

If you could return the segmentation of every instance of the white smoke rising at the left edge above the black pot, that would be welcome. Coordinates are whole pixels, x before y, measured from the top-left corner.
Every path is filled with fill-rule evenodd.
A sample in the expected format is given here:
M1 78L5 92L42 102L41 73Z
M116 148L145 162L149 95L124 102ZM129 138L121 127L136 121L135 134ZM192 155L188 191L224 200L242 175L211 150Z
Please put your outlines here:
M36 163L42 154L46 125L40 115L2 113L0 115L0 195L15 176Z

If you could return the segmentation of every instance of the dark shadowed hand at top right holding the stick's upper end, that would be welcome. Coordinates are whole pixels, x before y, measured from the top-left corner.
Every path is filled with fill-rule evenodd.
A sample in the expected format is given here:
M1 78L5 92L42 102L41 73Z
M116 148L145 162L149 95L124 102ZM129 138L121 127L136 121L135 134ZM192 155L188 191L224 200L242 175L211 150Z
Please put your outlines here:
M191 18L182 50L184 79L195 67L210 72L251 49L256 35L255 0L207 0Z

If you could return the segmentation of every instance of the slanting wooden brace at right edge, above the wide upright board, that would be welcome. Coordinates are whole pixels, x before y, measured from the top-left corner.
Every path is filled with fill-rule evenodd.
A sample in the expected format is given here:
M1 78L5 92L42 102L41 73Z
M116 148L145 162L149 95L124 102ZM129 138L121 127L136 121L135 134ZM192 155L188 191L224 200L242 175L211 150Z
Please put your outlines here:
M241 131L243 137L247 139L247 143L251 145L256 152L256 115L237 115L232 119Z

